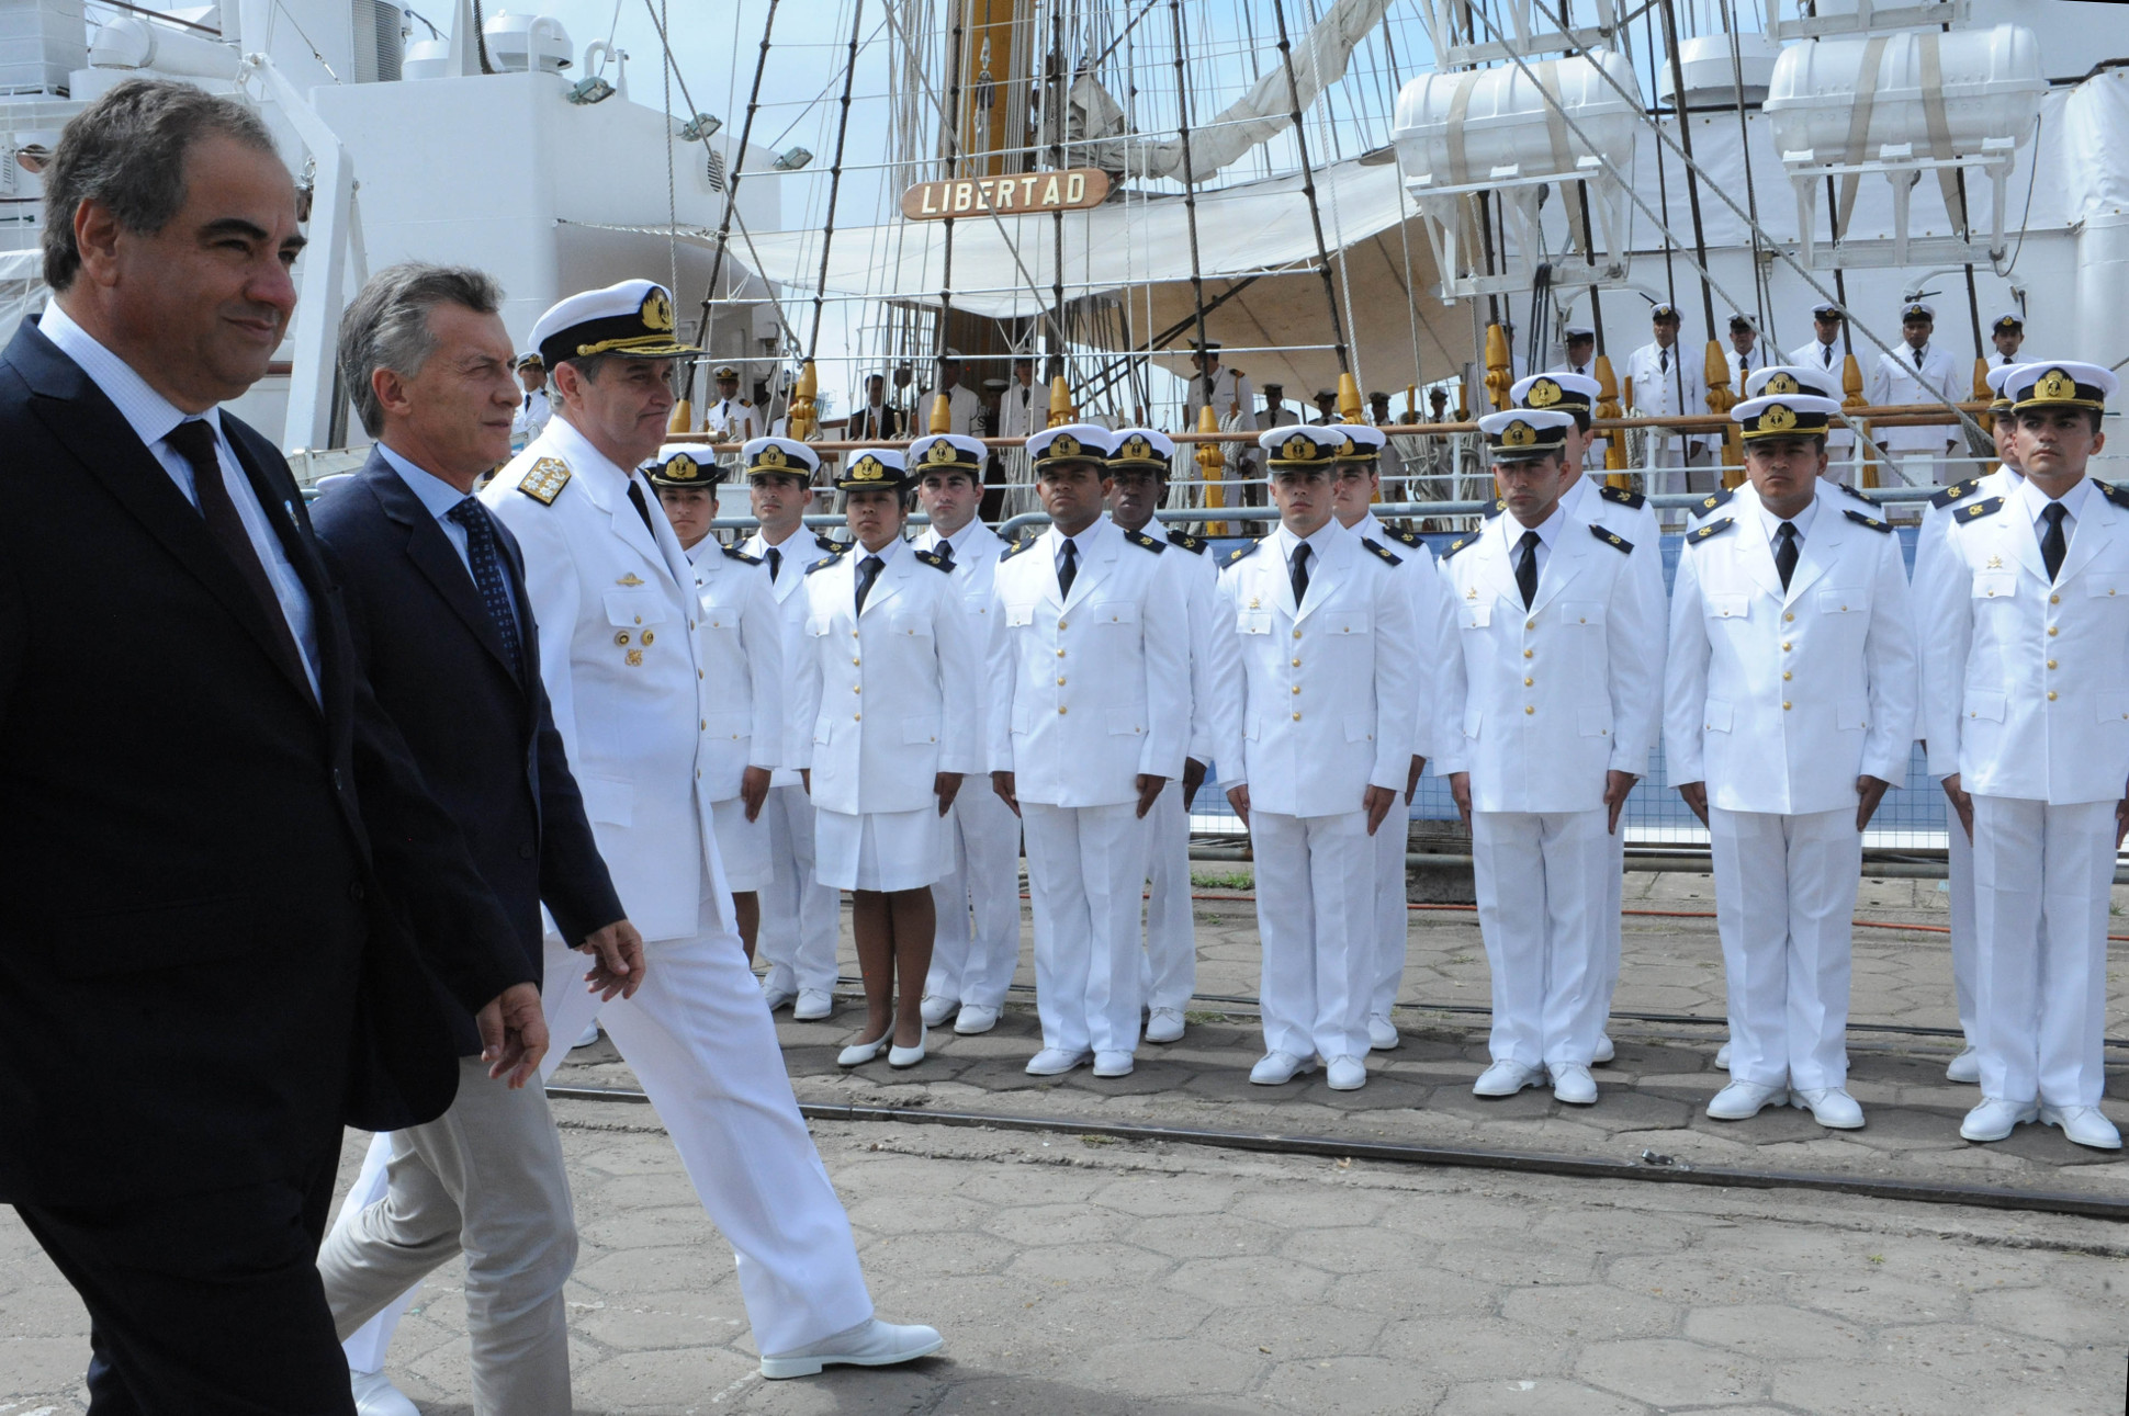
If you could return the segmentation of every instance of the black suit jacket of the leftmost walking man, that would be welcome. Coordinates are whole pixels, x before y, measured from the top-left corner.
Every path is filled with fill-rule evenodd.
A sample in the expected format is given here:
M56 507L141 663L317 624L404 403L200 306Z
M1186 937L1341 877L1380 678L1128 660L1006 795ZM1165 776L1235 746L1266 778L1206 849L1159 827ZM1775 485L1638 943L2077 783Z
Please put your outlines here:
M430 969L466 1007L539 977L356 666L287 462L224 428L319 698L81 366L34 322L0 356L0 1201L304 1173L343 1122L451 1103Z

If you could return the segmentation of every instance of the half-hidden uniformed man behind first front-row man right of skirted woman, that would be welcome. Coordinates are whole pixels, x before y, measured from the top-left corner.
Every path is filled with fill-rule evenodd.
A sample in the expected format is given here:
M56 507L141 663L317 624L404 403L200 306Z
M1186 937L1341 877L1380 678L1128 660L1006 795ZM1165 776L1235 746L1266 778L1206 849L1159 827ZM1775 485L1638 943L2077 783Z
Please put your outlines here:
M1190 615L1190 745L1184 775L1160 788L1145 813L1145 956L1139 994L1145 1001L1145 1041L1182 1041L1184 1014L1196 992L1196 913L1190 899L1190 803L1211 762L1211 605L1220 564L1207 541L1182 526L1160 526L1154 509L1167 500L1175 443L1154 428L1122 428L1109 454L1109 520L1126 532L1167 543L1160 569L1184 581Z

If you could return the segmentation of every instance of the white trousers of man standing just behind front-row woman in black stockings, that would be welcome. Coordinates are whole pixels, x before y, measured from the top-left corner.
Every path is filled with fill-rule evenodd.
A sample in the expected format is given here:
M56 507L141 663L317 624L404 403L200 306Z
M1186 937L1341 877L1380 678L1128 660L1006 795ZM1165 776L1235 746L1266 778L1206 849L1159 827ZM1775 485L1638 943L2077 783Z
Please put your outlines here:
M1020 967L1020 822L971 775L945 813L952 869L933 884L939 931L924 992L1003 1007Z

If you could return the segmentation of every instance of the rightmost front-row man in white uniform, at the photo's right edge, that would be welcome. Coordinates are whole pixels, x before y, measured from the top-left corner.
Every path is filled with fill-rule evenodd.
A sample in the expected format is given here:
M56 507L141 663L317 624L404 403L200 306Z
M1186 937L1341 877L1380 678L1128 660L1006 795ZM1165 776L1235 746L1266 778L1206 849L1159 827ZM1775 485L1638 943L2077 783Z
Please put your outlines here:
M1959 1135L2035 1116L2120 1148L2099 1112L2108 905L2129 796L2129 515L2086 475L2118 390L2106 368L2018 364L2003 383L2025 481L1959 505L1922 607L1929 771L1974 839L1982 1103Z

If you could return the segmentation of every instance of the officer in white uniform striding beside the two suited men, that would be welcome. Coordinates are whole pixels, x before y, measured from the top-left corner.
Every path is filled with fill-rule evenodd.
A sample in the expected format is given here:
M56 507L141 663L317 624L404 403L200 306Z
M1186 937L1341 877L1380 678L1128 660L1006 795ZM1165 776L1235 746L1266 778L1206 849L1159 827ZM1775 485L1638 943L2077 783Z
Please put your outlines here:
M598 854L647 941L647 977L600 1014L547 937L545 1007L560 1037L594 1016L634 1067L711 1220L739 1254L762 1376L881 1365L939 1350L928 1327L873 1318L858 1250L798 1116L769 1009L747 971L703 788L722 709L696 643L694 566L630 468L664 439L673 296L622 281L532 326L562 407L481 500L524 549L541 677ZM547 1071L560 1065L560 1052Z

